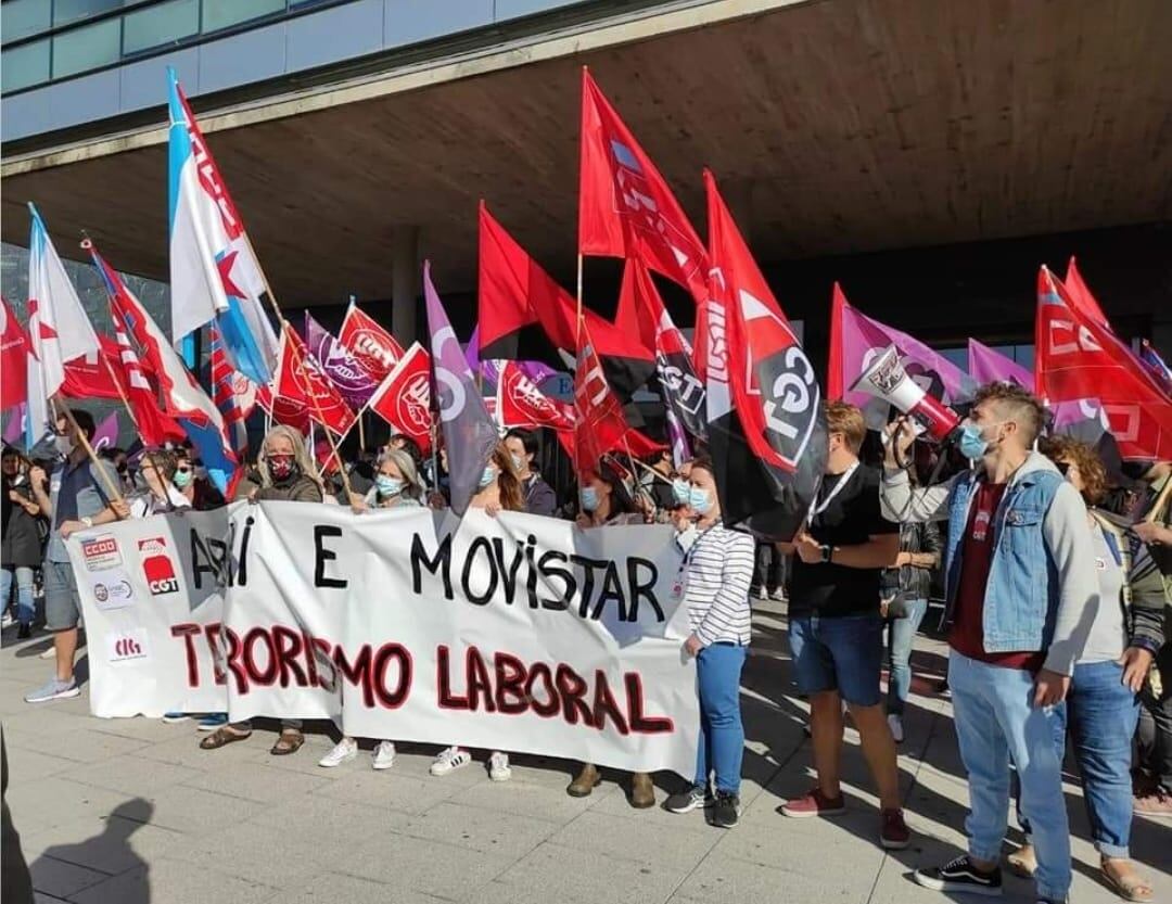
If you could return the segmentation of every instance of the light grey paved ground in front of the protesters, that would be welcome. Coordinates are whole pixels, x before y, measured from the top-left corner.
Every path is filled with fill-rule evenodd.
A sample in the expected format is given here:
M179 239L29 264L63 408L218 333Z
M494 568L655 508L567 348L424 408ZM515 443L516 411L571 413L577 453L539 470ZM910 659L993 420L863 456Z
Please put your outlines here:
M900 770L912 848L875 843L877 801L858 738L849 732L850 814L833 822L777 813L804 790L810 745L804 706L790 685L784 618L757 617L743 689L748 752L744 816L731 831L701 813L636 811L613 775L577 801L570 766L520 759L495 784L482 764L428 776L431 750L406 748L374 773L363 755L338 769L316 761L331 738L312 734L292 757L268 755L272 733L216 753L188 725L98 720L77 700L30 707L46 640L6 644L0 718L8 745L8 801L39 902L939 902L909 870L950 857L961 842L967 795L947 700L934 695L939 644L919 644L918 692ZM673 776L661 789L675 790ZM661 791L662 794L662 791ZM1068 783L1075 832L1076 902L1115 897L1096 879L1077 782ZM1133 855L1172 902L1172 822L1138 818ZM1010 899L1033 900L1008 879Z

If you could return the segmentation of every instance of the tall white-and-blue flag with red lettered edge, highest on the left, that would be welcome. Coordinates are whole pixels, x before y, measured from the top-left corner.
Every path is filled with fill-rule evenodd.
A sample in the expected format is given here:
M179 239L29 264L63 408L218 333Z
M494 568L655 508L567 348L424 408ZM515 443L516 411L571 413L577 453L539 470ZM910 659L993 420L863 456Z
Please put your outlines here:
M169 76L171 339L214 321L232 367L267 383L278 344L260 264L173 69Z

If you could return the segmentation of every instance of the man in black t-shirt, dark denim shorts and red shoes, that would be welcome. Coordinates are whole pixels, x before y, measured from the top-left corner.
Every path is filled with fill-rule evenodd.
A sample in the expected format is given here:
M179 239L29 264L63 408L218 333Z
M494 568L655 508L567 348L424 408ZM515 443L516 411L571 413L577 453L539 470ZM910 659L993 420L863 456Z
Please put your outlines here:
M863 740L879 786L880 843L909 841L899 806L895 742L879 692L883 619L879 577L899 555L899 525L879 509L879 473L859 462L866 435L863 413L826 406L830 454L826 477L810 509L809 526L793 543L790 578L790 651L798 689L810 698L810 729L818 786L782 808L786 816L830 816L846 809L839 788L843 701Z

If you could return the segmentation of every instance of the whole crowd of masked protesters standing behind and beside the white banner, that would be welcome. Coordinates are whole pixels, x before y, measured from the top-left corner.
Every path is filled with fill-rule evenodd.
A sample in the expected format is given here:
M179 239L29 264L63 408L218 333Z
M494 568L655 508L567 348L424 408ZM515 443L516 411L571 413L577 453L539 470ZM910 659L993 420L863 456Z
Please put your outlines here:
M1104 881L1127 900L1149 900L1152 889L1131 861L1129 838L1133 814L1172 817L1172 529L1170 507L1158 504L1167 498L1172 464L1129 462L1109 471L1095 448L1048 436L1038 400L1008 383L980 390L952 451L918 442L904 419L879 436L852 406L829 403L826 417L825 477L790 542L723 523L718 474L706 455L675 464L667 453L648 461L608 455L581 475L572 496L559 498L539 473L539 437L527 430L502 439L471 507L490 516L570 517L584 530L675 525L701 732L693 781L667 798L668 810L710 808L713 824L737 824L751 607L784 601L817 774L808 794L781 808L785 816L846 809L840 772L849 714L879 798L878 841L892 849L909 844L897 746L914 687L913 641L921 628L940 631L950 652L938 691L952 696L968 779L968 849L918 870L915 881L945 892L1000 893L1016 800L1027 842L1009 868L1035 877L1040 900L1065 900L1071 855L1062 763L1069 747ZM28 456L6 448L2 457L5 624L23 640L43 619L54 641L54 674L28 694L30 704L80 693L81 601L66 538L121 518L225 502L190 449L129 457L115 449L95 462L79 431L94 434L93 417L80 409ZM867 461L867 447L881 451ZM444 471L442 449L428 457L395 436L376 455L348 463L343 480L335 460L320 467L298 431L274 427L230 495L342 504L360 516L440 508ZM934 603L942 604L939 619L928 618ZM224 713L165 719L192 716L207 732L199 745L207 750L252 733ZM294 754L304 741L301 723L285 720L272 753ZM368 741L373 768L390 768L394 740ZM432 775L473 762L472 752L452 741L436 755ZM360 739L341 738L320 766L336 768L359 752ZM507 781L509 754L489 752L488 769L492 780ZM594 764L582 763L566 790L587 796L601 781ZM631 776L629 801L655 804L649 775Z

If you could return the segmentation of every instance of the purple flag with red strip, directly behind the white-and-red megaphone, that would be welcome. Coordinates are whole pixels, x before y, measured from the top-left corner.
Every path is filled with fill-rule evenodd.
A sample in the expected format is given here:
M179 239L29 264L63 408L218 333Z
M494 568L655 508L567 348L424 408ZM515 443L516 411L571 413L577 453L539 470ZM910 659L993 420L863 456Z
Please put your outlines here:
M899 351L907 374L945 405L967 402L976 392L976 381L947 358L933 352L919 339L860 314L845 299L841 326L843 397L863 409L867 427L873 430L881 429L887 422L890 406L867 393L851 392L851 387L874 356L890 345Z

